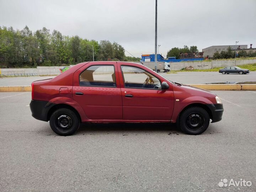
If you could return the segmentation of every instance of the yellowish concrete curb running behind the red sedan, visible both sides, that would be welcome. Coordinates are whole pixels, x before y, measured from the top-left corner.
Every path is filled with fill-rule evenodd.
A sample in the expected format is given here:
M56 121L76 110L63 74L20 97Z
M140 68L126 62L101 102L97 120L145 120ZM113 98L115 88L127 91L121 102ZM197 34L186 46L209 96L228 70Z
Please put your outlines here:
M255 91L256 84L187 84L206 90L247 90ZM0 86L0 92L31 91L31 86Z

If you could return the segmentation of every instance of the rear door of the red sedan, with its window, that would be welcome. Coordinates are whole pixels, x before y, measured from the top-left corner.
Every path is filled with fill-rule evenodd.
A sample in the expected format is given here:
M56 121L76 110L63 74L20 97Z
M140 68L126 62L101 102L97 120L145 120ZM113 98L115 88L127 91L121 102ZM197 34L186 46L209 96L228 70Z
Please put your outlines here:
M73 98L89 119L122 119L116 62L89 63L74 73Z

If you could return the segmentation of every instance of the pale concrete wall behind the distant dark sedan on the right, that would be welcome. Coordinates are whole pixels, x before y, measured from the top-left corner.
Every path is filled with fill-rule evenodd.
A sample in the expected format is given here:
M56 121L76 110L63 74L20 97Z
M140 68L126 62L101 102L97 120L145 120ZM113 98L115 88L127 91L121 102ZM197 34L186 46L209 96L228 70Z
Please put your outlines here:
M256 63L256 59L239 59L236 60L236 65L246 65ZM235 60L212 60L210 62L179 62L170 63L171 70L181 70L187 66L192 66L194 69L212 69L216 67L225 67L235 65Z

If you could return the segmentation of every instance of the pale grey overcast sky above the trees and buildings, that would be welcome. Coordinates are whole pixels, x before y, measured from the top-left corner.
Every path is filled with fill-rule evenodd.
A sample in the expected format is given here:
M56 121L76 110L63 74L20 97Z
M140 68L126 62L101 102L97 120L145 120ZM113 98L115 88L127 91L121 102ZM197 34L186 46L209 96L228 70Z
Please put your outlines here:
M0 26L108 39L135 57L154 53L155 0L0 0L0 7ZM256 0L158 0L159 53L235 41L255 48L255 19Z

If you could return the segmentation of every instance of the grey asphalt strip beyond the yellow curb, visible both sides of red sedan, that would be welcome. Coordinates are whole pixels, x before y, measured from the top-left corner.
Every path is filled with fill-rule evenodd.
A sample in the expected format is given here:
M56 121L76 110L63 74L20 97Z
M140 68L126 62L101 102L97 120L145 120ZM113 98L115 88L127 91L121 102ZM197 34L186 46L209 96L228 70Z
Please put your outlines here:
M206 84L217 82L244 82L256 81L256 71L251 71L250 74L221 74L214 72L177 72L177 73L160 73L166 79L183 84ZM31 77L14 77L0 78L0 86L28 86L31 82L53 78L54 76L31 76Z

